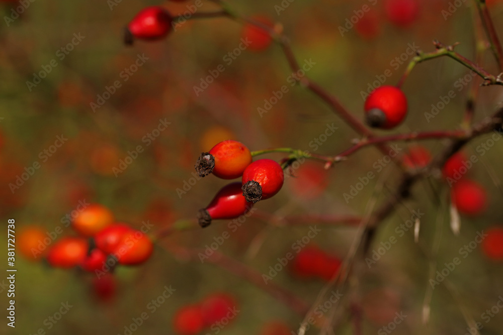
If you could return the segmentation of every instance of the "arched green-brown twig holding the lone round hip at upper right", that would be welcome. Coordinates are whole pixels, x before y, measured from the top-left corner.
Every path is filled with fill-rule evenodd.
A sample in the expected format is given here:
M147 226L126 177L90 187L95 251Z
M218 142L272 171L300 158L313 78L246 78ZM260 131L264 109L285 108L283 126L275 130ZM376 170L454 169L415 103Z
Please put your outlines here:
M473 72L477 73L482 79L484 79L484 82L482 83L483 86L488 86L488 85L503 85L503 80L499 77L495 77L494 75L490 74L483 68L479 67L477 64L473 63L471 60L468 58L460 55L459 53L454 51L454 45L449 45L445 46L439 41L434 41L433 44L437 48L437 50L432 51L432 52L418 52L418 55L412 58L410 61L409 65L407 66L405 73L403 76L400 78L400 80L397 83L397 87L401 87L405 79L409 76L410 72L412 72L412 69L419 63L422 63L426 60L442 57L442 56L447 56L458 63L463 64Z

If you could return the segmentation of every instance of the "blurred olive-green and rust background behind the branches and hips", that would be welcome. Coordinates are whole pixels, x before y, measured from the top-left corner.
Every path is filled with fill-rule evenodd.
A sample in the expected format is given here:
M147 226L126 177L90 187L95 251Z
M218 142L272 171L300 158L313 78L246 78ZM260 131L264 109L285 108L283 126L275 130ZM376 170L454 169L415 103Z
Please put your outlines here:
M386 16L384 0L375 5L362 0L291 3L285 0L283 3L289 6L278 15L275 6L282 6L279 0L229 2L243 15L266 16L281 25L299 62L315 63L308 76L336 94L359 118L363 116L362 92L368 91L369 84L382 77L386 70L391 76L386 77L385 84L395 84L412 58L406 53L410 45L431 51L433 39L445 44L460 42L456 50L470 59L475 58L474 26L479 22L474 21L473 1L456 2L460 6L452 7L456 10L449 16L443 11L448 11L453 2L417 2L417 17L407 25L397 24ZM2 17L11 17L12 9L20 4L2 2ZM202 4L197 11L217 8L204 0ZM260 52L245 50L227 65L223 57L238 47L242 37L240 23L225 18L189 20L165 40L136 41L131 47L124 46L123 27L149 5L163 6L177 15L187 11L193 2L34 1L13 22L3 19L5 22L0 25L0 216L5 225L8 218L16 219L17 234L29 225L54 231L55 227L62 226L62 218L74 210L80 200L108 206L117 220L129 222L133 227L148 221L154 225L152 232L165 229L177 220L194 218L197 210L206 206L214 193L226 184L209 176L198 180L186 193L177 192L193 177L200 153L222 139L238 140L250 150L291 147L312 151L312 141L333 123L337 131L315 152L334 155L347 149L358 137L313 94L299 85L289 86L290 70L277 45ZM358 20L360 24L356 28L341 36L340 27L364 5L369 6L371 12ZM490 10L501 33L503 6L492 1ZM72 42L74 34L83 38L63 57L60 49ZM126 81L123 71L134 64L138 55L148 59L128 75ZM47 68L53 59L57 65L50 67L46 77L34 87L27 85L27 81L33 82L34 73ZM497 74L489 51L483 53L480 62ZM196 95L193 87L219 64L224 64L225 71ZM466 68L450 59L418 65L402 87L409 101L407 119L391 132L459 128L470 83L472 80L476 85L480 83L480 79L475 78L459 86L459 79L466 75L472 78ZM96 103L98 95L103 96L106 87L116 80L121 87L93 110L91 103ZM270 99L273 91L285 84L289 87L288 93L261 116L257 108L264 107L264 100ZM454 98L434 119L428 120L425 113L430 113L432 104L438 104L451 90L455 91ZM475 119L493 113L500 100L499 87L481 87ZM171 125L146 145L142 139L157 128L159 120ZM50 157L43 158L40 153L53 145L57 136L67 141ZM479 156L476 148L486 140L487 137L476 139L466 148L466 153L480 158L468 171L467 178L477 180L486 189L487 210L476 217L461 216L461 234L455 237L449 229L448 186L434 179L442 200L439 203L429 182L418 184L411 201L397 208L375 239L376 250L392 236L397 238L396 244L370 268L362 263L358 280L340 290L344 297L333 333L355 333L350 319L352 304L361 311L364 334L387 333L382 332L382 327L400 312L407 317L396 325L395 334L464 334L468 326L466 319L481 322L483 334L501 333L503 312L495 313L487 323L481 316L503 295L501 263L488 259L480 246L462 258L461 264L449 274L450 286L435 286L431 302L427 304L431 307L430 320L423 323L432 265L424 250L434 252L438 246L437 269L442 270L444 263L460 257L459 249L473 241L477 232L503 224L501 193L494 185L494 176L501 177L498 166L503 163L503 141L496 142ZM436 154L445 142L422 144ZM144 152L115 175L113 168L138 145L144 147ZM400 143L399 148L405 152L409 145ZM267 157L279 160L284 155ZM286 178L277 196L258 203L257 208L262 213L278 216L363 215L378 182L385 181L378 202L389 195L388 190L396 184L398 170L393 164L384 164L382 171L376 167L382 158L379 151L369 147L328 171L324 171L320 163L305 163L293 172L294 177ZM17 176L34 162L39 162L40 168L13 193L9 184L15 183ZM346 201L344 193L349 193L359 178L370 171L375 172L376 178L354 199ZM424 213L420 245L414 244L411 231L403 237L398 237L395 231L410 218L409 209ZM445 213L444 217L439 218L439 213ZM218 249L259 274L268 273L277 258L292 251L292 244L316 225L305 220L296 225L278 226L263 216L247 218ZM344 260L356 236L356 227L330 224L317 227L322 233L309 245ZM261 330L264 324L274 320L296 330L302 318L264 290L219 266L198 260L191 262L183 254L173 252L174 246L204 249L226 230L227 221L215 221L204 230L182 231L163 238L156 243L154 254L146 264L117 269L115 296L106 301L93 291L92 274L51 269L18 253L16 328L8 327L4 318L1 332L34 334L43 328L47 334L54 335L124 334L124 327L131 324L132 318L149 312L147 304L162 294L166 285L172 285L176 292L133 333L175 333L172 318L178 309L222 291L235 298L240 312L223 329L206 329L202 333L260 334L264 333ZM74 234L70 227L64 227L61 236ZM6 229L0 235L7 244ZM2 275L0 282L7 281L6 277ZM287 268L273 281L308 304L315 301L326 284L322 279L297 278ZM337 287L329 287L332 289ZM1 290L2 308L5 308L7 290L4 287ZM49 327L44 320L66 301L73 307ZM313 326L307 333L319 333L319 328Z

